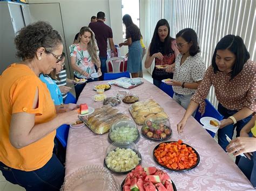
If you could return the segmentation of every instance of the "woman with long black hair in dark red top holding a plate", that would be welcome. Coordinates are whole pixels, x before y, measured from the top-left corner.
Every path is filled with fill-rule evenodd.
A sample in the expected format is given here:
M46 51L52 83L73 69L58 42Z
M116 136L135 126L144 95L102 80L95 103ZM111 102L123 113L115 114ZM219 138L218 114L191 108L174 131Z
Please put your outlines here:
M170 26L166 19L160 19L157 22L154 34L149 45L149 51L145 60L145 68L149 68L154 64L157 65L175 65L176 55L179 53L178 49L174 45L176 40L170 37ZM155 86L160 87L161 80L172 79L173 74L167 73L165 69L158 69L154 67L152 73L153 83Z

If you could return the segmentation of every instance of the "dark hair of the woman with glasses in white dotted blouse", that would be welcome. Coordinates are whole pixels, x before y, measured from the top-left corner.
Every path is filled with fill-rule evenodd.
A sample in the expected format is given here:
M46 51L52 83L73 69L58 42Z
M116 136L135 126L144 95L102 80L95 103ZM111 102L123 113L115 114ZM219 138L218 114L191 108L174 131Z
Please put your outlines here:
M188 43L192 43L192 45L190 47L190 55L191 56L194 56L200 52L200 47L198 45L198 37L197 37L196 31L194 31L193 29L190 29L190 28L186 28L186 29L179 31L176 34L176 39L178 37L183 38Z

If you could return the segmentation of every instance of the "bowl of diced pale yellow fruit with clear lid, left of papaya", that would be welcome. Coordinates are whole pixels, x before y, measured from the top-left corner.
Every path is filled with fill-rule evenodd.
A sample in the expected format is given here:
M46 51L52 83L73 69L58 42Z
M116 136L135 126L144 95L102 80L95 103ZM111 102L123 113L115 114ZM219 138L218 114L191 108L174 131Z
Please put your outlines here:
M129 173L141 162L142 155L134 143L112 143L107 147L104 165L113 173Z

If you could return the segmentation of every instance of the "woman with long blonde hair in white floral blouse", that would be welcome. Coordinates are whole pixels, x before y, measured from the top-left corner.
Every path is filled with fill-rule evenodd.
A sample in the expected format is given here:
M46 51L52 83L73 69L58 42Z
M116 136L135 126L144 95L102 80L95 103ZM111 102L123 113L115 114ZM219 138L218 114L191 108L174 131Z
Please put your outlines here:
M87 79L87 82L97 81L91 79L91 74L100 71L99 49L95 40L95 34L90 27L82 27L78 36L78 43L72 44L70 47L71 66L74 70L74 77L77 79ZM75 86L76 99L83 91L86 83L77 84Z

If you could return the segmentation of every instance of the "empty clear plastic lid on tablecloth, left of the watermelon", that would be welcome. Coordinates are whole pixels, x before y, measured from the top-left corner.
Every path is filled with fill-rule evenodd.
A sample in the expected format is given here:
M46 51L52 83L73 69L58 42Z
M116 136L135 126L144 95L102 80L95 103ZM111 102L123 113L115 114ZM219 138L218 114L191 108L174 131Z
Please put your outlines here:
M119 191L120 187L113 175L103 166L89 165L77 169L65 178L62 191Z

